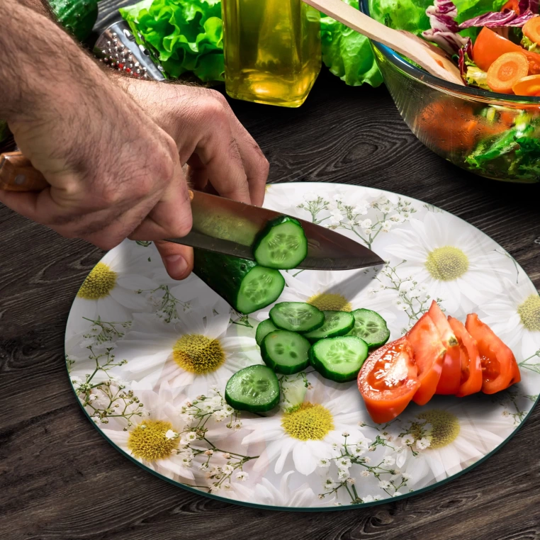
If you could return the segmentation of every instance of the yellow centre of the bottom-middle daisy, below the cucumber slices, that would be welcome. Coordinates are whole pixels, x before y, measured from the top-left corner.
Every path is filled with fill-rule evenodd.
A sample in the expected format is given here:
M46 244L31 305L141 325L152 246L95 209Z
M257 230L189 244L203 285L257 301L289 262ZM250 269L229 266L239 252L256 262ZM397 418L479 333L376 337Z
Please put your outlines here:
M306 402L286 412L281 425L294 439L322 441L334 429L334 419L327 408Z

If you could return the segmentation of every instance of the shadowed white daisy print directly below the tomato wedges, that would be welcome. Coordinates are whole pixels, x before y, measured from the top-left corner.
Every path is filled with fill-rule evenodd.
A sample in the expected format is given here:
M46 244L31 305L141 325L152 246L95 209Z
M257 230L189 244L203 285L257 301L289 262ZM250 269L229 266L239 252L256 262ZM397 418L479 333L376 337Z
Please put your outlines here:
M414 437L416 444L411 450L405 447L404 463L398 463L410 478L409 485L417 489L432 483L433 478L439 482L468 468L499 446L514 429L512 422L498 420L480 403L425 408L415 415L407 430L410 435L405 436L407 442Z

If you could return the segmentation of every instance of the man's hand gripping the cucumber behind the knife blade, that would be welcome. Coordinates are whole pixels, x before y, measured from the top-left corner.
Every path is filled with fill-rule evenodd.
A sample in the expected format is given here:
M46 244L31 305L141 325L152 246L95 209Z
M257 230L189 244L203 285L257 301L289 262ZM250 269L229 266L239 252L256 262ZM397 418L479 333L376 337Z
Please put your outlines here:
M268 161L222 94L128 77L118 77L117 82L173 138L181 164L189 165L187 179L194 189L262 205ZM191 249L155 243L164 260L184 257L191 271Z

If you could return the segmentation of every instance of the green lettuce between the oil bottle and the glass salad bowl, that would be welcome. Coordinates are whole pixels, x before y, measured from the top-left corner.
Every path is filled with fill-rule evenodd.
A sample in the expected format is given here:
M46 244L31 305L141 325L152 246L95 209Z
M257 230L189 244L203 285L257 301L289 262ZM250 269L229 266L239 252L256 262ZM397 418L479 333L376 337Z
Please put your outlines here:
M358 9L358 0L344 0ZM383 76L373 57L369 40L321 13L322 61L334 75L349 86L365 82L379 86Z

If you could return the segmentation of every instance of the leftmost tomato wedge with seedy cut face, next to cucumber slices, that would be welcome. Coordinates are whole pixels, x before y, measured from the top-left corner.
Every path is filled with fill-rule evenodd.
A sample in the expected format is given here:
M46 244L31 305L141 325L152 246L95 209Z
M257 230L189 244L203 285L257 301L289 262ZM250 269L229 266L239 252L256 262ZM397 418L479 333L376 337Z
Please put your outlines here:
M358 388L373 422L384 424L409 405L420 383L406 337L373 352L358 374Z

